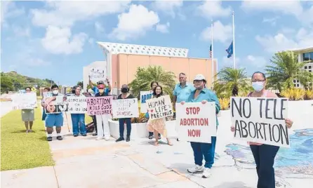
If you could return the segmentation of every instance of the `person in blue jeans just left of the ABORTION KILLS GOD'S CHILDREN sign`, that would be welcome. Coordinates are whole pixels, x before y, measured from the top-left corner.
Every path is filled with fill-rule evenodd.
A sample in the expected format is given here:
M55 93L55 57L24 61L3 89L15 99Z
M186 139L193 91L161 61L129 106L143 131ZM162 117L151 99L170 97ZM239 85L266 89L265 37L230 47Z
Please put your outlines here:
M79 98L84 96L81 94L81 86L76 86L74 90L74 97ZM85 114L71 114L72 126L73 126L73 136L77 137L79 133L82 136L86 136L86 125L85 125Z

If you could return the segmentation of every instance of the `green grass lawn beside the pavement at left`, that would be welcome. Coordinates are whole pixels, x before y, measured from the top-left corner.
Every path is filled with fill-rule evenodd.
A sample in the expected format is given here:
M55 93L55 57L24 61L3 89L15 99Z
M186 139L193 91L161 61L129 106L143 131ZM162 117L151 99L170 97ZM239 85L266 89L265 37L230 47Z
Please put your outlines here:
M21 110L1 118L1 170L53 166L41 109L35 109L34 133L25 133Z

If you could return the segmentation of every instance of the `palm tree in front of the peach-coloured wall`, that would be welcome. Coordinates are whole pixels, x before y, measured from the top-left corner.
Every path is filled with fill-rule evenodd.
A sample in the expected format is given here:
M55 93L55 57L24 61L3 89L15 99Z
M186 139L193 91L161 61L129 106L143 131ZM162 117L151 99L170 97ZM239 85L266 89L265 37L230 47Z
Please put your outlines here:
M129 84L134 95L139 95L140 91L150 90L150 83L157 81L163 88L163 92L172 98L175 87L175 74L166 72L161 66L149 66L147 68L138 67L135 79Z

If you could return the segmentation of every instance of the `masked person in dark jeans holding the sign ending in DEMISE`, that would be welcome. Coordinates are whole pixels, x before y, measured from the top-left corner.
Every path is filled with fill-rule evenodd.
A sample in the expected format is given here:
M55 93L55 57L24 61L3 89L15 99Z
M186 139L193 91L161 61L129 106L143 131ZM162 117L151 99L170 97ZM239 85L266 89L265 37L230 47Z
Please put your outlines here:
M119 95L117 99L123 100L134 98L134 96L131 95L131 93L128 93L128 91L129 88L126 84L121 86L121 95ZM117 139L116 142L124 140L124 123L126 123L127 128L126 142L129 142L131 140L131 118L121 118L119 119L119 139Z

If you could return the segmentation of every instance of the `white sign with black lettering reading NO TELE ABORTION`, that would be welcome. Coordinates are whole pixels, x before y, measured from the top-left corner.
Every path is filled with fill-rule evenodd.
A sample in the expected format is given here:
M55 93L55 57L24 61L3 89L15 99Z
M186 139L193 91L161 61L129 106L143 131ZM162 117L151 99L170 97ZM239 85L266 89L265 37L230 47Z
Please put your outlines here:
M290 147L287 98L231 98L230 107L235 138Z

